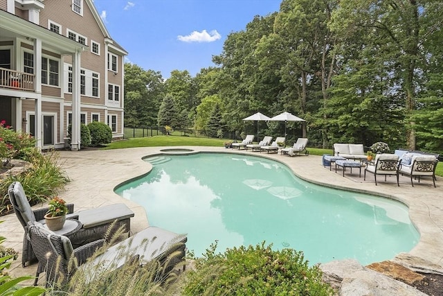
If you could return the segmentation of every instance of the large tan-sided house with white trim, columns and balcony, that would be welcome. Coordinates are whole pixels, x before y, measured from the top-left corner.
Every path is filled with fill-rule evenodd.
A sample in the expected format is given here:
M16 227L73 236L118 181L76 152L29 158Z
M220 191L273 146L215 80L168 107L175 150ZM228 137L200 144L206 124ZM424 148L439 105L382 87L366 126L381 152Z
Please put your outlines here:
M123 137L124 58L92 0L0 0L0 120L80 150L80 124Z

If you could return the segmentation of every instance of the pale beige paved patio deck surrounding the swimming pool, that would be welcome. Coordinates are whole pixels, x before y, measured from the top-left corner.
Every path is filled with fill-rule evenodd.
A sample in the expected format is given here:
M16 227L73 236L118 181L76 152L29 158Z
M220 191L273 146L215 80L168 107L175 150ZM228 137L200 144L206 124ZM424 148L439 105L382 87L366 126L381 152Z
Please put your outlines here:
M124 202L128 205L135 216L132 218L131 229L133 233L140 232L148 227L145 209L138 204L125 200L114 193L114 188L129 179L145 175L150 171L152 165L143 161L143 157L164 154L164 149L189 149L188 153L215 152L215 153L237 153L243 155L254 155L274 159L289 166L293 173L303 180L315 184L332 186L338 189L347 189L363 193L371 193L392 198L403 202L409 207L410 219L420 233L419 243L408 252L414 256L443 265L443 178L437 177L434 188L429 178L423 179L415 186L410 181L402 182L397 186L396 182L377 182L374 184L374 176L368 175L366 181L358 177L358 172L353 171L356 177L343 177L329 167L324 168L321 157L317 155L300 155L289 157L288 155L267 154L251 152L251 150L226 149L223 147L144 147L126 148L117 150L80 150L60 151L60 163L71 179L66 190L60 192L59 196L66 202L75 204L75 210L100 207L105 204ZM345 175L347 175L349 171ZM389 180L388 180L389 181ZM35 208L42 207L38 204ZM15 214L0 217L1 236L7 241L5 247L13 247L21 253L21 244L24 231ZM21 268L21 258L13 262L9 272L12 276L34 275L37 264ZM41 277L42 278L42 277Z

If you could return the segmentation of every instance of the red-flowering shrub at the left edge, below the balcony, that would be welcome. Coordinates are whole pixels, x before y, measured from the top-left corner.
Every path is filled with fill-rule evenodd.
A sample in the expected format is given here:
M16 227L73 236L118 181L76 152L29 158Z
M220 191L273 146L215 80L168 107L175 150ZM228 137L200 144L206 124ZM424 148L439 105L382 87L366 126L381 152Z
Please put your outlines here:
M6 121L0 121L0 167L10 159L23 157L26 148L33 147L35 139L24 132L12 130Z

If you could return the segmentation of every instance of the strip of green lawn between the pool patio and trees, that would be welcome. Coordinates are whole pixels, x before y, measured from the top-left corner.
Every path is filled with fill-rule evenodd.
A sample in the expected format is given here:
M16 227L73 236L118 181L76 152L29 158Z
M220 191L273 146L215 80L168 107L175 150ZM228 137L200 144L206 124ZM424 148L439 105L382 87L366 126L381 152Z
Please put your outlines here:
M160 147L160 146L211 146L223 147L223 143L228 139L215 138L195 138L195 137L181 137L181 136L155 136L145 138L132 138L122 141L114 141L109 143L102 149L121 149L134 147ZM310 155L332 155L332 149L309 148ZM443 177L443 162L437 164L435 175Z

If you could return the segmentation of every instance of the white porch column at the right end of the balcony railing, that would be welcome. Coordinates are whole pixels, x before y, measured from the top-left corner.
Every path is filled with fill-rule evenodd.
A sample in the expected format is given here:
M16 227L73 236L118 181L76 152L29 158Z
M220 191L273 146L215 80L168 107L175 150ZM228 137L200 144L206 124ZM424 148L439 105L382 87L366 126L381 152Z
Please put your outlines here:
M34 85L37 98L35 99L35 146L43 147L42 129L42 40L34 40Z

